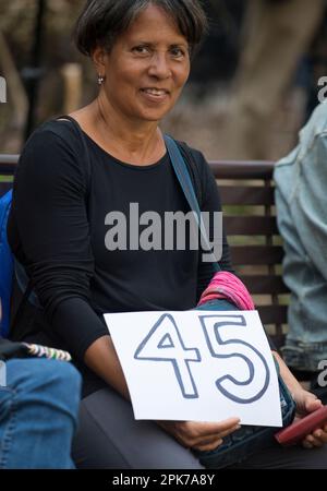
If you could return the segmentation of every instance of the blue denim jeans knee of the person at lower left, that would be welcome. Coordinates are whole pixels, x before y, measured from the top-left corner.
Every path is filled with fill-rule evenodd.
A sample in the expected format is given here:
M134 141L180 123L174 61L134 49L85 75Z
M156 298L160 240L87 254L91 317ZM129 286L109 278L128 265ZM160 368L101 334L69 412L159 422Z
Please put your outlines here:
M0 469L71 469L81 378L48 359L7 362L0 387Z

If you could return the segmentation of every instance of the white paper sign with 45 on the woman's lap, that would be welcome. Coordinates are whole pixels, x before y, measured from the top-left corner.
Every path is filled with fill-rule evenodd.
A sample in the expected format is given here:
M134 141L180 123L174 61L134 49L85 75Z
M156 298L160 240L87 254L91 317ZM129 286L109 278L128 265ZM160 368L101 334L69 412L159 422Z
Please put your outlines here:
M105 315L135 419L281 426L278 379L256 311Z

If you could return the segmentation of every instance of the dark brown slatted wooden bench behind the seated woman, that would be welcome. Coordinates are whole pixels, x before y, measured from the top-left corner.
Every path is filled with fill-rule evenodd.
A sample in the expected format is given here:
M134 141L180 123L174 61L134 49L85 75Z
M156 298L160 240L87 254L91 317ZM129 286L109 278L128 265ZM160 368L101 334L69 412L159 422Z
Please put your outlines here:
M10 189L17 156L0 155L0 195ZM288 288L283 284L283 255L274 204L274 163L213 161L225 208L225 227L232 261L276 345L287 328Z

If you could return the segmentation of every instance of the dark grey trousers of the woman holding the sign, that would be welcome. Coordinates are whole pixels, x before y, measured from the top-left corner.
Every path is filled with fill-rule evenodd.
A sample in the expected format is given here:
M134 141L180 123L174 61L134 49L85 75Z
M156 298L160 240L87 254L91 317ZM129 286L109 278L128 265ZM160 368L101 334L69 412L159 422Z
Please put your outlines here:
M80 469L203 469L190 450L153 421L136 421L132 406L109 386L82 400L73 444ZM327 469L327 445L274 446L232 468Z

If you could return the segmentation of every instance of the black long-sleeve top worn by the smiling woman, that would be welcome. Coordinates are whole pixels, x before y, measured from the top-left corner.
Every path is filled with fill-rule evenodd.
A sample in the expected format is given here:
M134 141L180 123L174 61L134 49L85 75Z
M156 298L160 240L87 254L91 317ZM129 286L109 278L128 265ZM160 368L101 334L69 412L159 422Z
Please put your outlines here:
M135 166L112 157L85 133L84 139L90 169L70 121L48 122L32 135L19 163L8 225L10 246L43 306L34 331L82 364L86 349L108 334L104 313L192 309L213 276L201 251L187 250L189 241L185 251L108 250L108 233L117 225L109 224L110 212L124 214L129 231L131 203L137 203L138 215L156 212L162 224L165 212L190 207L168 155ZM218 212L211 171L199 152L190 152L202 181L202 211ZM149 225L140 225L140 232ZM128 233L128 247L129 239ZM220 267L231 271L226 239Z

